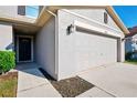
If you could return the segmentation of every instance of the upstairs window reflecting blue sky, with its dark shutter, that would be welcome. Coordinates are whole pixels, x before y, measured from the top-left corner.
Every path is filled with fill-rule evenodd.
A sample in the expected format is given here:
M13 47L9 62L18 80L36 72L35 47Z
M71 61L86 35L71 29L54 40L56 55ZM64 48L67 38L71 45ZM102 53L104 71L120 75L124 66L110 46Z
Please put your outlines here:
M18 14L27 16L30 18L38 18L39 16L39 6L19 6Z

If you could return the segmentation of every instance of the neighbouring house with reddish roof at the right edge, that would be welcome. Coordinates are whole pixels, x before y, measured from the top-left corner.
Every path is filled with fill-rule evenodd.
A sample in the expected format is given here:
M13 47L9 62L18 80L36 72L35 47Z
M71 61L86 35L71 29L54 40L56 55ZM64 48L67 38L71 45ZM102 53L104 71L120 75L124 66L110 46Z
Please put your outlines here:
M126 53L133 53L131 59L137 59L137 27L130 28L126 35L125 51Z

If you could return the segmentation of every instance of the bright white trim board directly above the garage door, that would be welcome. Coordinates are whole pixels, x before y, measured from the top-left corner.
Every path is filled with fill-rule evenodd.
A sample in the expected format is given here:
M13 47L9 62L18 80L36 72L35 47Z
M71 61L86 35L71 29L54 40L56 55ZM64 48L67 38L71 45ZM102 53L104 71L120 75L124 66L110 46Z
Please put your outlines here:
M114 33L112 31L108 31L108 30L105 30L105 29L102 29L102 28L97 28L97 27L94 27L92 24L87 24L87 23L84 23L84 22L81 22L81 21L77 21L77 20L74 20L74 25L76 28L82 28L82 29L87 30L87 31L102 33L104 35L120 38L120 34L118 34L118 33Z

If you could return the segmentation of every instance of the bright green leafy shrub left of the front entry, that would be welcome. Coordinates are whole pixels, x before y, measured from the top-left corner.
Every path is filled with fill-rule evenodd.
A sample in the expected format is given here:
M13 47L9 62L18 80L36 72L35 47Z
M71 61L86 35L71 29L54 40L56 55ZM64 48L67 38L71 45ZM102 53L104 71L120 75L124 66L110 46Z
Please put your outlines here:
M0 73L6 73L15 66L14 52L0 51Z

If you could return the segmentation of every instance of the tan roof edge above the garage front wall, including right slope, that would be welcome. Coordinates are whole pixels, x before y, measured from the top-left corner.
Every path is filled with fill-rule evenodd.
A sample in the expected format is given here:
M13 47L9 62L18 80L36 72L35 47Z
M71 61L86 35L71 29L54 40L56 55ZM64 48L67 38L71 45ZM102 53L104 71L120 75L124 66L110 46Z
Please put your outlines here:
M129 31L124 25L123 21L118 18L117 13L110 6L48 6L48 10L52 12L56 12L60 9L67 9L67 10L95 10L95 9L104 9L106 10L109 16L112 17L113 21L115 22L116 27L123 31L124 34L128 34Z

